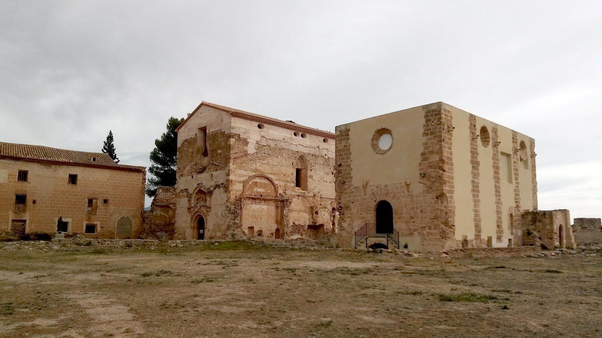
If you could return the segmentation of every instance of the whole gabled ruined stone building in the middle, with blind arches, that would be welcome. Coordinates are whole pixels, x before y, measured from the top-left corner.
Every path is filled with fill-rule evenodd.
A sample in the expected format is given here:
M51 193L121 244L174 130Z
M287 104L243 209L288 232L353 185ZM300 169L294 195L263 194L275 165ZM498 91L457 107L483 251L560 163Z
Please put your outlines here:
M334 134L208 102L177 131L176 239L336 232Z

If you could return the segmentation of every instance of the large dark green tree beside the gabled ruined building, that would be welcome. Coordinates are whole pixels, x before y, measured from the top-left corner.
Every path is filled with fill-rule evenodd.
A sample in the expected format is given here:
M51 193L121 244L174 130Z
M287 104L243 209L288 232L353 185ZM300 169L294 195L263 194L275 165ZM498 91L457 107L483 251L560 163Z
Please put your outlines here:
M146 186L146 195L153 197L157 194L158 186L176 185L176 155L178 155L178 133L176 128L184 122L184 118L170 117L167 121L167 131L161 138L155 140L155 149L151 152L151 167Z

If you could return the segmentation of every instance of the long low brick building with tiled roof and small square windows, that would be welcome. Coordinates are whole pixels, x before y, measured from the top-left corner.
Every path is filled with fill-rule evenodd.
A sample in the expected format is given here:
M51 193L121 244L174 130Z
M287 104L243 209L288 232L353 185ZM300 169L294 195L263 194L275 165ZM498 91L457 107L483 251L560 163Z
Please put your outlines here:
M0 232L136 238L145 176L104 153L0 143Z

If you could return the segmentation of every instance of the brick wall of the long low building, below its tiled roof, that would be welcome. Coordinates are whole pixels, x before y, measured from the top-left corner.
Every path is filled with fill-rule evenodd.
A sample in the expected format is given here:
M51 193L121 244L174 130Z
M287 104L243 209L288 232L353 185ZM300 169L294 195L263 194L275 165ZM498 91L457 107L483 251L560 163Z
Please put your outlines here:
M19 170L28 170L28 182L17 182ZM77 184L68 183L77 174ZM132 220L132 235L138 236L144 208L146 173L75 165L0 159L0 231L12 220L25 220L26 232L57 232L57 220L69 221L69 233L84 233L85 224L97 224L89 238L115 238L117 220ZM14 210L15 194L26 194L25 212ZM88 198L96 198L88 210ZM104 203L107 200L107 203ZM35 204L34 204L35 201Z

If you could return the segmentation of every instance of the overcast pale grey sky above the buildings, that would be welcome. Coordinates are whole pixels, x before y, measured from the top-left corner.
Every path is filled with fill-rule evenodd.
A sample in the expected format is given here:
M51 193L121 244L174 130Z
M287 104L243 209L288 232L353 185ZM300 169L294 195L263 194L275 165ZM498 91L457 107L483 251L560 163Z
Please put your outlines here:
M602 1L0 0L0 141L111 129L147 167L201 100L328 131L444 101L535 138L539 209L602 217L601 65Z

